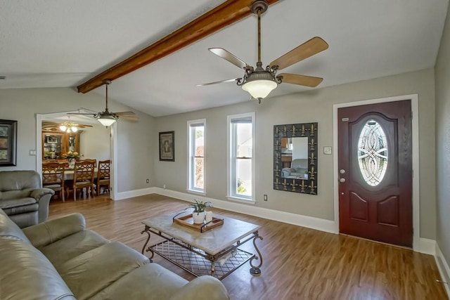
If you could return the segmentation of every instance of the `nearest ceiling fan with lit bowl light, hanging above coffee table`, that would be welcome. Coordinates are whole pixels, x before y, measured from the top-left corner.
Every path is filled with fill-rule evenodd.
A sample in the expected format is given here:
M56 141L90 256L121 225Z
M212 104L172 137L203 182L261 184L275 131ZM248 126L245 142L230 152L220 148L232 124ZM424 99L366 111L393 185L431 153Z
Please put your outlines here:
M242 86L244 91L248 91L252 98L258 99L259 103L261 103L261 100L266 98L266 96L268 96L269 93L282 82L309 87L316 87L322 82L323 78L320 77L288 73L276 74L278 70L289 67L290 65L300 62L300 60L304 60L326 50L328 48L328 44L320 37L313 37L304 44L301 44L288 53L285 53L283 56L271 62L264 70L261 62L261 14L267 10L268 6L269 5L265 0L256 0L250 7L252 13L255 13L255 15L258 16L258 61L256 63L256 69L245 63L240 58L234 56L229 51L226 51L224 48L209 48L209 51L217 56L220 56L221 58L224 58L224 60L228 60L229 63L236 65L240 69L243 69L245 73L241 78L214 81L207 84L197 84L197 86L207 86L210 84L236 81L238 86Z

